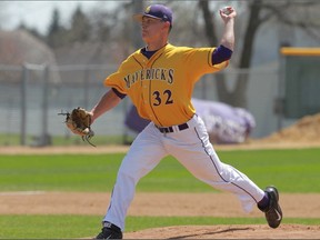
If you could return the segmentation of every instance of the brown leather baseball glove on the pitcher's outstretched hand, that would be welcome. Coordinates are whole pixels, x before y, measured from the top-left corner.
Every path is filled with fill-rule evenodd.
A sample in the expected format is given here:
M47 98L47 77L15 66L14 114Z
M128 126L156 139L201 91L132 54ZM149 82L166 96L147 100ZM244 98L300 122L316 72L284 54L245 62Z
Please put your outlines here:
M91 130L91 114L83 108L76 108L67 113L59 113L66 117L66 126L74 134L81 136L82 140L87 141L89 144L96 147L90 142L90 139L94 136L94 132Z

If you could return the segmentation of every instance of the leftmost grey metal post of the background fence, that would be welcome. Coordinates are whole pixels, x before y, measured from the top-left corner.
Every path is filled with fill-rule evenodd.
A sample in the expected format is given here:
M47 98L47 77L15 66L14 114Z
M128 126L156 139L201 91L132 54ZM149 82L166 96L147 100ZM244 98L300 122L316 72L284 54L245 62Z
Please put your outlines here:
M21 94L21 124L20 124L20 144L26 146L26 131L27 131L27 81L28 81L28 68L26 64L22 64L22 78L20 84L20 94Z

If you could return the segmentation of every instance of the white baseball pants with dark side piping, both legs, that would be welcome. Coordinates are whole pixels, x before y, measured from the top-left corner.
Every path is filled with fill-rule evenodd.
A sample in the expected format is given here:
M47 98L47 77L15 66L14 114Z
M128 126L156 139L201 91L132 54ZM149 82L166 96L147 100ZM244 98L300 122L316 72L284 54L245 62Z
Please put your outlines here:
M151 122L140 132L122 160L103 221L124 230L136 184L168 154L177 158L199 180L234 193L244 211L252 210L253 204L263 198L264 191L246 174L219 160L200 117L194 114L187 123L189 128L182 131L173 127L174 132L161 133Z

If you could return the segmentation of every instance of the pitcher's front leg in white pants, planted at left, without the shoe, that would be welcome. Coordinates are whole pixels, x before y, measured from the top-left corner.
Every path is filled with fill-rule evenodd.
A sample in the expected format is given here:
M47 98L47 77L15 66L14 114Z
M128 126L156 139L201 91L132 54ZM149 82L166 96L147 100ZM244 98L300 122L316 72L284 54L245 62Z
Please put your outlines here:
M156 133L157 134L157 133ZM133 141L122 160L112 190L111 202L103 221L124 230L128 208L134 197L136 184L166 156L161 139L154 136L154 128L146 128Z

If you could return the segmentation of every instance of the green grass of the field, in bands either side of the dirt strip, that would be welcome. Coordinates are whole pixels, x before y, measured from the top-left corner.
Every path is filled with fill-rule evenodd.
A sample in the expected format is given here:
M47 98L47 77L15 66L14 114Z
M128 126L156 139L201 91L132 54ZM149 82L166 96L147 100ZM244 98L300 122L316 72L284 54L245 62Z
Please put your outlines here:
M219 151L218 154L223 162L238 168L261 187L274 184L281 192L320 192L320 149ZM110 192L122 158L122 153L0 154L0 189L2 192L36 190ZM208 192L212 189L194 179L177 160L166 158L150 174L141 179L137 191ZM0 238L88 237L99 231L100 220L101 216L0 216ZM266 220L263 217L259 219L129 217L127 231L178 224L252 222L264 223ZM284 218L283 222L320 224L320 218Z

